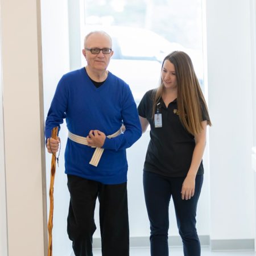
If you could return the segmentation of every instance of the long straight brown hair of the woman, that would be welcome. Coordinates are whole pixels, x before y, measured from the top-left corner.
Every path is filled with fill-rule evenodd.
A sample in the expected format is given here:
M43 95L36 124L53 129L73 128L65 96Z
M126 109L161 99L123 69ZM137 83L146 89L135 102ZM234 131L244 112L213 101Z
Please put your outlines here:
M182 51L174 51L167 55L163 60L163 64L166 60L174 64L175 67L177 81L177 109L179 111L180 121L189 133L193 135L199 134L203 129L201 123L203 121L202 108L206 112L204 114L207 117L207 124L211 126L212 123L210 122L207 104L196 77L192 61L187 53ZM161 77L160 85L153 95L152 119L154 119L156 104L163 96L163 93L164 84Z

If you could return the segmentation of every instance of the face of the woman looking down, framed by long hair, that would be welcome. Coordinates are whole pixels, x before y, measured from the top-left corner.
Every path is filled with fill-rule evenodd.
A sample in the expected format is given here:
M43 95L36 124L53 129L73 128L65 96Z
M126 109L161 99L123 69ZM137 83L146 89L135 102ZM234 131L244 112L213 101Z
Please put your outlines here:
M176 73L174 64L170 60L165 60L161 71L161 77L163 80L164 87L166 89L176 89Z

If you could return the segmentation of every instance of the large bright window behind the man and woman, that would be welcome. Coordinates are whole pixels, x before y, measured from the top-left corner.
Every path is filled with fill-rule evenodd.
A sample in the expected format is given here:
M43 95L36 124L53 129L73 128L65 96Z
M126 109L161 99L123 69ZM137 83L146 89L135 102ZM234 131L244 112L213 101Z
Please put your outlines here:
M84 6L82 31L112 36L109 71L130 85L137 102L158 86L162 60L176 50L191 56L203 86L201 0L84 0Z

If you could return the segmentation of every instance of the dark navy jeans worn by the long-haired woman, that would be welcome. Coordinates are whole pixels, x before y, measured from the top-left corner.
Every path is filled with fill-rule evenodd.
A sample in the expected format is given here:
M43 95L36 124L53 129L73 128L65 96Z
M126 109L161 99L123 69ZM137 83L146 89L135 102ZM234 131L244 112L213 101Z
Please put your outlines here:
M172 197L177 227L183 241L184 256L200 256L201 247L196 231L196 207L203 184L203 175L196 176L195 195L181 199L185 177L165 177L143 172L143 187L150 220L151 256L168 256L169 203Z

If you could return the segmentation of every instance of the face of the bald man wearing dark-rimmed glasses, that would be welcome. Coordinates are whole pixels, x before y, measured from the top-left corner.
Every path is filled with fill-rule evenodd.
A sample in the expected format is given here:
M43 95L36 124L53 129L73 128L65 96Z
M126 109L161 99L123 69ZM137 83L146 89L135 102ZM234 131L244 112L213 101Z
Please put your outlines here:
M94 33L86 40L85 48L112 48L111 41L107 35ZM83 49L82 54L85 56L88 67L92 71L105 71L109 65L110 57L113 51L109 54L104 54L102 51L98 54L92 54L88 49Z

